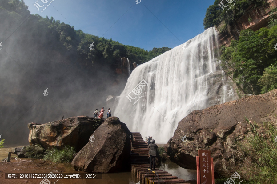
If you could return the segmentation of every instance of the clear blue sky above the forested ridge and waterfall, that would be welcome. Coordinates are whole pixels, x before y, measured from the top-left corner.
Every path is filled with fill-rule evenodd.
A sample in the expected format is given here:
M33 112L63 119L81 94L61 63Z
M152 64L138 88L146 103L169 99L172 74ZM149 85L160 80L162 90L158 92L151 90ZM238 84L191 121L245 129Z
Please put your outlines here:
M76 30L152 50L173 48L202 33L206 10L215 0L54 0L42 13L36 1L24 1L31 14L53 16ZM43 5L41 0L38 4Z

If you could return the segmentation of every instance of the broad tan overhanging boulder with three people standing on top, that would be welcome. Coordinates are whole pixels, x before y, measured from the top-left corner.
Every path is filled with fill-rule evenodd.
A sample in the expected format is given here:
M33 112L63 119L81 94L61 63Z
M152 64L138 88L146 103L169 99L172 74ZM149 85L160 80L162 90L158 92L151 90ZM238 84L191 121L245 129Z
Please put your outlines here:
M103 119L77 116L46 124L29 123L29 143L39 144L45 149L70 145L78 152L102 122Z

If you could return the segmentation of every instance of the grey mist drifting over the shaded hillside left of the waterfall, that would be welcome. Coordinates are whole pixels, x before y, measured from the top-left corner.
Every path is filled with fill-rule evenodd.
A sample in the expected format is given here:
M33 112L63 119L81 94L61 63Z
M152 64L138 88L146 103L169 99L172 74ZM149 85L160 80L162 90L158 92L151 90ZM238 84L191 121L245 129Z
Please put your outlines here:
M93 117L96 108L110 108L107 96L118 96L126 78L116 79L109 66L92 64L77 48L56 44L56 35L33 26L33 16L14 21L6 13L0 12L0 135L5 147L28 144L28 123Z

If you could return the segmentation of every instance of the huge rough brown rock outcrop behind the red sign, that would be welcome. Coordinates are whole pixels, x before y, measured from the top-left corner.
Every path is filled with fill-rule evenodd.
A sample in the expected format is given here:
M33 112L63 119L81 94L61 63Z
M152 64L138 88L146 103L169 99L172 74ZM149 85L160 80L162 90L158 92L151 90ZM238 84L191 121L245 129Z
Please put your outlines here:
M253 136L246 117L250 123L272 121L276 125L276 108L277 89L195 110L179 122L165 150L173 162L188 169L196 169L199 149L210 150L215 172L228 178L241 168L253 166L251 159L237 145ZM263 136L265 132L261 130L259 134ZM185 135L183 142L181 138Z

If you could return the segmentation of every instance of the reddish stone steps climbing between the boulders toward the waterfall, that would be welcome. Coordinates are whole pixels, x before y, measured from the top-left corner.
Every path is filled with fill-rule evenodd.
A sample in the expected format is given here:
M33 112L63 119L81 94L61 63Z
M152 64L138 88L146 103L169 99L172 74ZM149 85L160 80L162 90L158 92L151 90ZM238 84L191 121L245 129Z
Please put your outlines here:
M143 138L139 132L132 132L131 134L131 172L135 178L137 178L140 183L145 184L146 170L150 168L149 158L148 158L148 148L147 143L143 141ZM156 173L159 174L160 184L169 184L169 183L179 183L179 184L196 184L194 181L185 182L183 179L178 179L177 176L172 176L172 174L159 170L156 168ZM153 178L152 178L153 179ZM158 184L150 178L150 182L153 184Z

